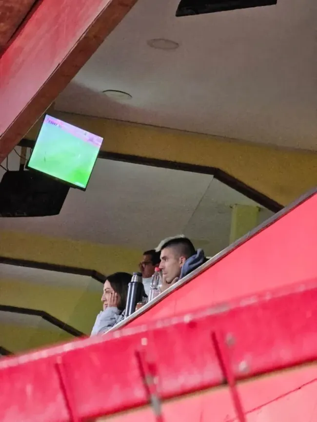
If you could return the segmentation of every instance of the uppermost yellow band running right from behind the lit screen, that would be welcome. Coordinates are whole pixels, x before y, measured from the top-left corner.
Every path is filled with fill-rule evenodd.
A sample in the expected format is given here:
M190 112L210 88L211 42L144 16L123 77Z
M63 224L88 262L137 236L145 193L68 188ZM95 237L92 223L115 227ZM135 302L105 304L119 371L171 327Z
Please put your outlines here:
M217 167L286 205L317 185L317 153L53 112L104 138L103 151ZM26 135L36 139L40 123Z

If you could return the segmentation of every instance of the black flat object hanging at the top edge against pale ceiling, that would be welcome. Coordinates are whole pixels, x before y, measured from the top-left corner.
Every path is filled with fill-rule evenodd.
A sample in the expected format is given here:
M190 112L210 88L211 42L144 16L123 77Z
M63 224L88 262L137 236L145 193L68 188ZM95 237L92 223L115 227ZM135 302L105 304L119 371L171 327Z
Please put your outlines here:
M273 4L277 4L277 0L181 0L176 16L202 15Z

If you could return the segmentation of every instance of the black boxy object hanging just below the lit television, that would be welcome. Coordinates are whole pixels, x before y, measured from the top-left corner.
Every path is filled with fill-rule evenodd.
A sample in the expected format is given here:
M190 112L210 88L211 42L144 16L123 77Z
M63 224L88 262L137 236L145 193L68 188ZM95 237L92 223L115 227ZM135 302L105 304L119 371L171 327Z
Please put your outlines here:
M59 214L69 186L41 173L4 173L0 182L0 217L44 217Z

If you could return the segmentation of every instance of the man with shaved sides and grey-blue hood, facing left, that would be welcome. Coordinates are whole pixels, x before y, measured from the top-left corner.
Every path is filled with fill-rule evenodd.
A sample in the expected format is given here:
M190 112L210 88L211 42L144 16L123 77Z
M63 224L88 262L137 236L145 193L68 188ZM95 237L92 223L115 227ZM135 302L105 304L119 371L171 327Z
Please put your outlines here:
M192 242L183 235L164 239L157 250L161 259L162 291L206 262L203 250L196 251Z

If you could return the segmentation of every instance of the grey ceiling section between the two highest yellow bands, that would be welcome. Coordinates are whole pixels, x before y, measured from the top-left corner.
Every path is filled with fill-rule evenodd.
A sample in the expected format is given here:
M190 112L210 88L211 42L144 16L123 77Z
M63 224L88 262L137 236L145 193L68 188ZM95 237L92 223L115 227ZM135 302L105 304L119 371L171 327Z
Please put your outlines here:
M14 152L8 167L18 170ZM98 159L87 191L71 189L59 215L1 218L0 230L136 249L154 248L162 238L184 233L214 255L229 244L235 204L258 205L209 174ZM260 218L269 215L263 210Z

